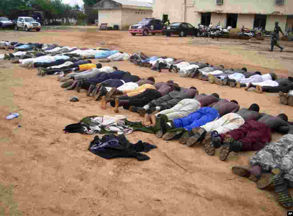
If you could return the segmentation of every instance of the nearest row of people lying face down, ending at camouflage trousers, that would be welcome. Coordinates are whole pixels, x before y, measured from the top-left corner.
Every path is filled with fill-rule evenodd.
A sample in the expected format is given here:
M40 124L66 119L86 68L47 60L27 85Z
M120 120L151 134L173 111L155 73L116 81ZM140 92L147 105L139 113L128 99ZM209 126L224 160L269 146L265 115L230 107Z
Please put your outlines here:
M293 164L288 163L289 159L292 161L293 156L292 151L289 150L293 141L293 127L285 114L273 117L260 113L258 104L252 104L248 109L239 109L235 100L220 99L216 93L198 94L195 87L180 88L172 81L154 84L155 80L152 77L147 80L133 77L132 81L136 81L133 84L140 87L145 85L144 88L132 91L110 88L109 83L115 83L117 80L109 79L108 75L114 74L120 74L122 80L125 79L124 76L132 77L128 72L116 70L112 73L101 73L99 81L104 81L100 83L92 82L90 79L74 79L75 81L62 84L62 87L71 85L69 89L76 88L78 92L81 88L85 89L88 96L99 95L96 99L103 95L101 103L103 109L106 108L107 102L110 102L115 106L116 112L120 106L131 112L138 112L144 116L144 125L152 126L156 136L165 140L179 138L179 142L187 146L203 145L209 155L214 155L215 149L220 148L219 158L222 161L226 160L233 151L258 151L263 148L253 156L252 169L234 167L233 172L240 176L251 177L254 181L260 180L258 187L262 189L275 184L276 196L280 203L284 207L292 206L287 181L293 182ZM127 85L131 83L122 86ZM153 111L158 113L153 115L151 114ZM268 144L274 131L287 135L277 142ZM281 148L278 146L280 143ZM283 155L286 160L282 160ZM284 168L276 167L280 164ZM281 174L270 178L261 176L262 171L271 170Z

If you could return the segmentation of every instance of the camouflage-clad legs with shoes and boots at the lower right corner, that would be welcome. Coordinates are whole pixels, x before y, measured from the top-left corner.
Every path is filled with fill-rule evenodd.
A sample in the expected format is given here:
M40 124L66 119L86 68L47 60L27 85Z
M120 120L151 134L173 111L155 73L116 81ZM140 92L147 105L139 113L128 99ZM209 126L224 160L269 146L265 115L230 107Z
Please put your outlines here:
M276 200L283 207L290 208L292 207L292 197L289 186L293 185L292 150L293 126L290 126L288 134L275 142L270 142L251 157L251 168L234 166L232 172L257 182L259 189L274 187ZM262 175L263 173L270 174Z

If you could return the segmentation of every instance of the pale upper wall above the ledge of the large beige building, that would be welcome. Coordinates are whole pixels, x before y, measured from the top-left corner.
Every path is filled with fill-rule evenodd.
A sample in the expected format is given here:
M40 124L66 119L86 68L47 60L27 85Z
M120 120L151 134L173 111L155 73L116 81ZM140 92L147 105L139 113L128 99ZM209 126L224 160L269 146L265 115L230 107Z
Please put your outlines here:
M219 12L226 14L293 14L293 1L284 0L284 5L276 5L275 0L223 0L217 5L216 0L194 0L198 12Z

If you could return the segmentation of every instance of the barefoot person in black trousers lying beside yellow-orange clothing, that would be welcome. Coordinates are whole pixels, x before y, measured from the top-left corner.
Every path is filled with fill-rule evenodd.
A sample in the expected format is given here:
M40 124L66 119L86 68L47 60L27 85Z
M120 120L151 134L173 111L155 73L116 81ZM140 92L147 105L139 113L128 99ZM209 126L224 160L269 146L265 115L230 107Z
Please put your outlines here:
M148 102L154 99L158 99L159 97L162 97L165 94L168 94L169 92L173 91L175 88L179 89L178 84L172 82L166 82L166 83L157 83L159 85L156 86L156 89L145 89L142 93L137 94L135 96L119 96L116 97L114 100L113 98L106 98L103 97L101 108L105 109L106 103L111 102L111 106L115 107L114 112L118 112L118 108L120 106L123 106L124 109L130 109L131 106L144 106ZM149 84L146 84L149 85ZM141 86L143 87L143 86ZM139 87L140 88L140 87ZM134 89L134 92L137 91ZM128 93L129 94L129 93ZM151 95L154 94L154 95Z

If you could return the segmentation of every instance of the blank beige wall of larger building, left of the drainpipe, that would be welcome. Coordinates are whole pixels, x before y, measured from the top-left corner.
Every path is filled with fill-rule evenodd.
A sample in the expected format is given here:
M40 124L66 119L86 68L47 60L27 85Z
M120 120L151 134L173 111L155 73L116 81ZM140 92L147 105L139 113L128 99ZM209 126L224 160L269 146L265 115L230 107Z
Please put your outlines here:
M171 23L184 21L183 4L184 0L153 0L153 17L163 19L163 14L168 14Z

